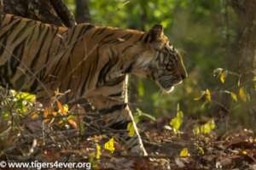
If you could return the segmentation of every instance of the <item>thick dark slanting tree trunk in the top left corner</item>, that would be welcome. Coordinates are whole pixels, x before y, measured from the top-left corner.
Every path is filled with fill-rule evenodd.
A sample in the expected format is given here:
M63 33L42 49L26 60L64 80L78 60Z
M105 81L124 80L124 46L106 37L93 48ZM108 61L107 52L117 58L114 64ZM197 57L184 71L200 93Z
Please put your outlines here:
M73 14L62 0L0 0L0 5L0 12L20 15L56 26L72 27L76 24Z

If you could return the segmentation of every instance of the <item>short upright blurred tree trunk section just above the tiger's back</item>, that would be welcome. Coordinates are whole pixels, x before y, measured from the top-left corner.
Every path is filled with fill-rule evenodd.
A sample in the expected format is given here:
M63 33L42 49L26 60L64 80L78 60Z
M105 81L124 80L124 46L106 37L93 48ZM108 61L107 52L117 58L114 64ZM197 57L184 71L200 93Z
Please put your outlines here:
M76 0L76 20L78 23L91 21L88 1L89 0Z

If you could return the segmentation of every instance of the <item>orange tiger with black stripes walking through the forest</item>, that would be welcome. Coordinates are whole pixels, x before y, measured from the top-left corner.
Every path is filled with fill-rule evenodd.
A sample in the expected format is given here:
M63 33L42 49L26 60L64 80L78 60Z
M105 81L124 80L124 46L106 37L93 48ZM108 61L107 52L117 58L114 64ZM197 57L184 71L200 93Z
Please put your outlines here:
M102 127L121 130L115 139L129 153L147 156L128 101L129 75L146 77L170 93L188 76L183 58L160 24L149 31L79 24L52 26L13 14L0 17L0 85L47 100L86 99ZM134 128L129 134L128 124Z

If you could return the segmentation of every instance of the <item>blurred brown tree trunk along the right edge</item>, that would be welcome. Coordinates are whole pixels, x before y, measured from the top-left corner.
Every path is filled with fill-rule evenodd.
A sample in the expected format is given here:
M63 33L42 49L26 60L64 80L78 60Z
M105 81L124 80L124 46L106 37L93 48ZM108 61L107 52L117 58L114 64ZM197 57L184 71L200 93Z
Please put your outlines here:
M241 74L241 85L247 87L249 101L244 104L244 111L256 117L256 90L253 77L256 77L256 1L232 0L239 21L237 44L237 70Z

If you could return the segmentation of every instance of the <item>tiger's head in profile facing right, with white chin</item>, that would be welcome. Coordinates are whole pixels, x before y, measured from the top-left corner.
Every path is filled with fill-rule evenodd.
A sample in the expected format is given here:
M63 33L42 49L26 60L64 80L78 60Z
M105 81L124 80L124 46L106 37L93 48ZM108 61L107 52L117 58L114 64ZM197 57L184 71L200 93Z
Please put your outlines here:
M145 33L143 46L145 50L137 59L139 75L149 77L163 91L170 93L174 85L187 77L182 56L164 35L163 26L160 25L153 26Z

